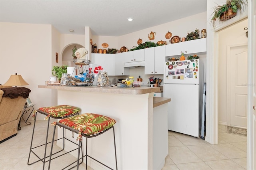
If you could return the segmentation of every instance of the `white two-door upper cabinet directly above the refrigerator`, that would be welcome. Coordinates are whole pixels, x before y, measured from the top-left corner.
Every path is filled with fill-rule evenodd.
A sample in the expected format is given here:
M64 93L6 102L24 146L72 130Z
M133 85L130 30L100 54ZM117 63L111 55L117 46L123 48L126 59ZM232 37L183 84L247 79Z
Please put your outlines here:
M190 40L186 42L179 42L166 45L165 55L180 55L191 54L191 53L200 53L206 51L206 38L200 38L197 40Z

